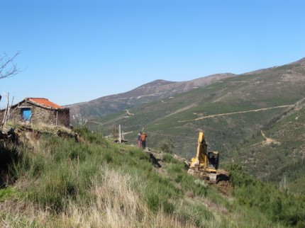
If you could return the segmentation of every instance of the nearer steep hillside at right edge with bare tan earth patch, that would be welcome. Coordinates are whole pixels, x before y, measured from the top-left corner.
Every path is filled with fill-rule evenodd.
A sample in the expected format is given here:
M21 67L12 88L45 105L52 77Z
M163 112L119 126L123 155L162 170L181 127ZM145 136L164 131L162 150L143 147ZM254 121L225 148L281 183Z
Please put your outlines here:
M231 157L262 180L304 193L304 139L305 102L302 100L238 144Z

